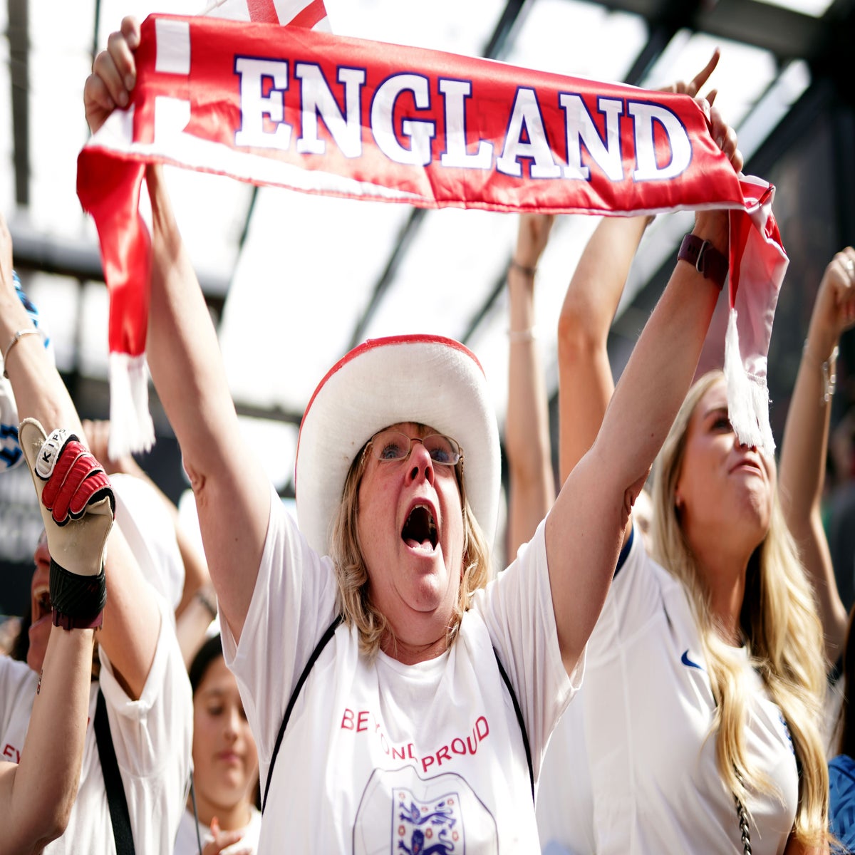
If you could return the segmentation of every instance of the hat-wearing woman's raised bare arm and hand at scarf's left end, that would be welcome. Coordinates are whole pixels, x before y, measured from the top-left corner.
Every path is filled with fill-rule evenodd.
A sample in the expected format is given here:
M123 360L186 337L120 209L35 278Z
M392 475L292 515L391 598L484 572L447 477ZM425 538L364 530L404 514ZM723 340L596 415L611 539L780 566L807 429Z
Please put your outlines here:
M139 25L122 21L86 80L94 131L135 82ZM270 485L242 439L220 348L181 241L162 168L146 174L151 198L152 272L147 353L151 377L177 437L198 507L205 556L221 616L239 639L261 563Z

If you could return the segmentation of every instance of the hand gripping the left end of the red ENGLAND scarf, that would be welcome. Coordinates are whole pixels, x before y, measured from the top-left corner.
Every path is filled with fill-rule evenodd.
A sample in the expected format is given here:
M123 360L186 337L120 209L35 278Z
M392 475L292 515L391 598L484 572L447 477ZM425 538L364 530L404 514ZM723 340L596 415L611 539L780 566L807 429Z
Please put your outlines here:
M137 82L133 51L139 47L139 21L128 15L121 29L110 33L107 50L102 50L92 63L92 73L83 87L86 123L91 133L107 121L116 107L124 109L131 100Z

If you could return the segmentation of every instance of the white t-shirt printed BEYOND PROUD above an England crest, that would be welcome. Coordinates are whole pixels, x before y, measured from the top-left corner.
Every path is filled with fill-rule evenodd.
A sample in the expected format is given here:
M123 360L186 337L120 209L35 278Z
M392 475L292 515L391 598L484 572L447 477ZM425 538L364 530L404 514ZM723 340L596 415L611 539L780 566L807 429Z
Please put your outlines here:
M272 496L240 645L223 651L255 734L262 788L288 699L335 616L328 557L311 551ZM311 670L274 766L258 852L539 852L516 692L535 778L581 681L558 650L543 527L475 595L443 656L404 665L359 653L342 625Z

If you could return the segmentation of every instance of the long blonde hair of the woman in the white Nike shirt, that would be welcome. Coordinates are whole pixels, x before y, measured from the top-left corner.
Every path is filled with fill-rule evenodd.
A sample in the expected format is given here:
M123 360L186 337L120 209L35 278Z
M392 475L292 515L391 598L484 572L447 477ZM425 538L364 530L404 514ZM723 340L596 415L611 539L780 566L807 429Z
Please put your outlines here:
M716 699L711 727L716 764L723 781L745 805L744 781L765 792L778 790L774 781L747 762L745 722L751 689L734 648L716 631L709 593L675 503L692 414L711 386L722 380L723 374L713 371L693 385L659 454L652 495L652 553L687 590ZM780 707L793 739L799 766L796 837L806 846L823 845L828 826L828 766L819 728L825 689L823 628L777 492L769 531L746 570L740 627L752 666Z

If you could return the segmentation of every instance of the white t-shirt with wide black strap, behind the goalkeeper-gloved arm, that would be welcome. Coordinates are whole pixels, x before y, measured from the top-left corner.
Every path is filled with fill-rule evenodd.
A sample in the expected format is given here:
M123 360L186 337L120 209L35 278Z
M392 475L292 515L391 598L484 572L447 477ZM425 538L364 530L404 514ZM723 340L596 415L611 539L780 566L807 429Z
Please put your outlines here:
M190 682L175 640L172 617L159 597L157 602L161 609L161 631L139 700L127 697L115 680L103 648L99 650L101 691L137 855L172 851L190 776L193 725ZM38 675L27 663L0 657L0 745L4 760L21 759L37 684ZM97 691L98 683L93 682L80 788L68 828L62 837L47 846L45 855L115 853L95 740ZM45 769L44 774L50 775L50 769Z

